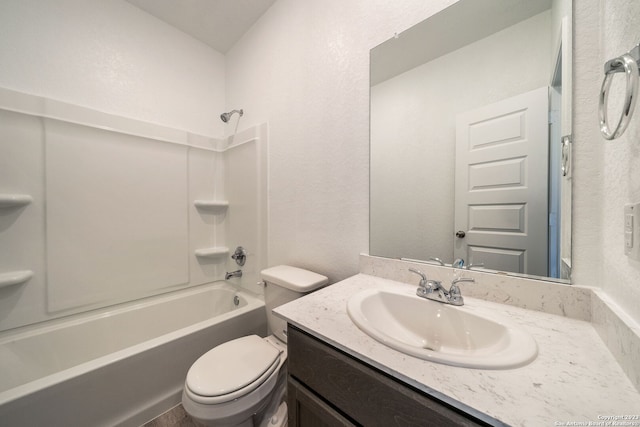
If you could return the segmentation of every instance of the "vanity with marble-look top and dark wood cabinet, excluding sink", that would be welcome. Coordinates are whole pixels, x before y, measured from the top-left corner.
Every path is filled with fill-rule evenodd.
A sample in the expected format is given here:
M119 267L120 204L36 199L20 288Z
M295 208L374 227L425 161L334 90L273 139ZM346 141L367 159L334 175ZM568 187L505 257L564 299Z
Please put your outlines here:
M290 331L290 425L541 426L640 414L640 393L587 321L465 297L461 310L507 318L538 355L515 369L448 366L362 332L346 306L366 289L416 286L358 274L275 309Z

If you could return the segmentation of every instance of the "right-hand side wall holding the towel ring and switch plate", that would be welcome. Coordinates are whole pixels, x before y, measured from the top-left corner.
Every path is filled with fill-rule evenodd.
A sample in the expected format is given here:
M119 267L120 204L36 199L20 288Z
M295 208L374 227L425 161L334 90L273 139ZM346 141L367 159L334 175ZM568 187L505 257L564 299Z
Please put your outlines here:
M640 42L640 2L601 0L600 15L602 52L599 71L605 61L627 52ZM617 107L611 112L614 120L619 117L617 114L624 102L624 78L618 75L616 80L610 98L611 105ZM599 86L593 89L597 93ZM603 197L599 203L603 210L603 288L636 322L640 322L640 261L624 255L623 233L623 206L640 202L640 106L637 104L636 99L634 117L621 138L610 142L598 138L597 143L603 150ZM636 222L638 226L640 224Z

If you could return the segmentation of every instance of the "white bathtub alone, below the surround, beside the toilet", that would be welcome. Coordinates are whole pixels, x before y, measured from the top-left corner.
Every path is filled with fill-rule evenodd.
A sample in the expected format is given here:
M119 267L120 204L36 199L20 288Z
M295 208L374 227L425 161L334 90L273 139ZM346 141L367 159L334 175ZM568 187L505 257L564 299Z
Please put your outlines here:
M253 333L264 302L227 282L2 333L0 425L142 425L198 357Z

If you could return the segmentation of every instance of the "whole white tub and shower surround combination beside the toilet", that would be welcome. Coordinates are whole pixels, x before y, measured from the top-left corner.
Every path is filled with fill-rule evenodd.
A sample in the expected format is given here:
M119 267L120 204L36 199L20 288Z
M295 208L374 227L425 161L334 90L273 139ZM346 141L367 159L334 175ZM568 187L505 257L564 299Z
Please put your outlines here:
M266 144L0 89L1 423L141 425L264 336Z

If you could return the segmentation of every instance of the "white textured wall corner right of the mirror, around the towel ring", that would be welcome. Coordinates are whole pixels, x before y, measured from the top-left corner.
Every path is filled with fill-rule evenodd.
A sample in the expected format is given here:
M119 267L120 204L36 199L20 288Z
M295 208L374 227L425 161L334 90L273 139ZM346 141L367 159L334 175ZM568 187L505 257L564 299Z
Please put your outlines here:
M575 95L575 105L579 108L576 115L582 119L578 124L582 135L575 147L581 162L576 164L574 175L577 227L574 227L573 235L575 246L580 248L576 254L579 273L576 281L601 286L624 311L640 322L640 262L624 255L623 232L624 205L640 202L640 106L636 105L625 134L610 142L598 132L597 115L604 62L627 52L640 41L640 2L583 0L578 4L583 8L576 10L581 13L578 18L583 16L589 26L581 26L581 20L576 25L578 37L585 39L578 40L579 61L575 69L575 74L584 76ZM592 19L590 13L594 12L598 21ZM598 38L589 40L586 33L596 33ZM612 109L613 120L620 111L624 94L624 78L618 75L615 80L610 103L618 109ZM583 100L584 106L581 105ZM580 209L585 206L589 207ZM599 235L594 236L594 229L600 231Z

